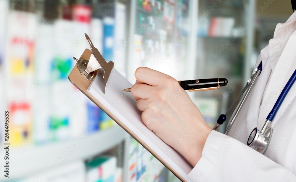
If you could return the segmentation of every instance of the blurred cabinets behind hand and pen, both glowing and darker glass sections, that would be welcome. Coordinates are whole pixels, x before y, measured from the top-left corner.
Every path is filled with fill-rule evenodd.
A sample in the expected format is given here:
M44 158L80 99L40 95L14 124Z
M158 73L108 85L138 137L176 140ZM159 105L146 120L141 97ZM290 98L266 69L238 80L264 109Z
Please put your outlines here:
M135 81L140 66L177 80L227 78L229 85L219 90L189 93L213 128L253 69L255 0L172 0L163 12L157 1L151 7L150 1L131 2L128 35L139 33L128 47L128 78Z

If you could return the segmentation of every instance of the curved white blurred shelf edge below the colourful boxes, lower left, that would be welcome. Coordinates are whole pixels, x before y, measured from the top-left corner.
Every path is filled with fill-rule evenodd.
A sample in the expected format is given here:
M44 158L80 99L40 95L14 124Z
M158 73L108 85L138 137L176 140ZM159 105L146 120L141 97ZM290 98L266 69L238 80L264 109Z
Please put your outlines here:
M73 144L76 139L73 139L68 142L29 146L22 152L18 148L11 149L9 180L28 177L76 160L86 160L120 144L126 138L125 134L126 132L116 124L107 130L91 133L77 146ZM56 160L60 159L60 155L66 152L65 149L70 149L70 146L74 146L74 149L57 164ZM4 180L7 178L1 175L0 181Z

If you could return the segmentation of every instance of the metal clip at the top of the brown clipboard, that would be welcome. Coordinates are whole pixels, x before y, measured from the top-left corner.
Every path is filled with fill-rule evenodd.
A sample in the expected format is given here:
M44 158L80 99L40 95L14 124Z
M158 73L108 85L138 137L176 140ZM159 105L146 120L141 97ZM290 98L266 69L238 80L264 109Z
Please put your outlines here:
M112 61L107 62L101 55L101 53L96 49L91 42L91 39L89 36L84 33L86 40L88 41L89 45L91 46L91 56L89 57L89 60L81 59L78 60L77 58L73 57L75 61L78 62L78 70L82 74L84 78L86 78L88 81L93 78L95 75L95 71L103 68L104 75L103 78L106 82L105 86L105 92L108 85L108 80L112 75L112 70L114 67L114 63ZM104 92L104 93L105 93Z

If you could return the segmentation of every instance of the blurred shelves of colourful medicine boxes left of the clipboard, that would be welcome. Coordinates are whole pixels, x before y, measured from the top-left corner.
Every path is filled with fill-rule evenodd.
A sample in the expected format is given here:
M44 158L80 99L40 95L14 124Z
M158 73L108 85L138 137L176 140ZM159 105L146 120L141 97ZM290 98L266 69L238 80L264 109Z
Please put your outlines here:
M124 39L124 31L116 36L108 33L113 33L115 25L117 29L125 29L120 23L125 22L126 4L124 1L116 4L113 14L102 19L99 13L101 17L92 13L87 2L1 0L0 3L0 9L4 10L0 19L4 25L0 29L0 74L1 85L5 85L0 91L1 101L2 97L4 100L0 107L2 111L9 110L9 179L26 181L54 170L46 181L73 181L63 178L69 172L63 166L95 160L123 145L127 138L122 128L67 79L75 65L73 57L79 57L89 47L84 33L104 51L105 58L116 62L110 47L114 40ZM107 2L102 4L110 6ZM99 3L93 5L94 9L95 5ZM114 152L113 168L100 175L113 176L114 180L116 175L122 176L123 154ZM99 168L101 164L96 165ZM55 170L61 167L65 173ZM91 171L87 165L76 167L83 178ZM0 180L7 180L3 166L0 173ZM121 181L122 177L119 178Z

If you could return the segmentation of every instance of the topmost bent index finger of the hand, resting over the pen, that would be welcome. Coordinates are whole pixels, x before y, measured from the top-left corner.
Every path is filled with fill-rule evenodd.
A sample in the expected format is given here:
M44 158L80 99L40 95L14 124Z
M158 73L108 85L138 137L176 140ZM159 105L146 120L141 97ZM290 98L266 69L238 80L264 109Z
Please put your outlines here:
M135 72L135 77L137 79L136 83L146 83L152 86L161 84L163 78L173 79L169 75L160 73L147 67L139 67Z

